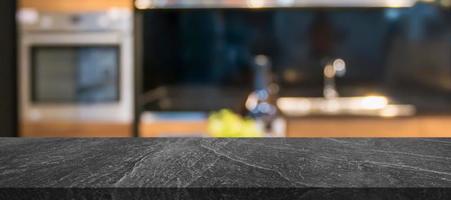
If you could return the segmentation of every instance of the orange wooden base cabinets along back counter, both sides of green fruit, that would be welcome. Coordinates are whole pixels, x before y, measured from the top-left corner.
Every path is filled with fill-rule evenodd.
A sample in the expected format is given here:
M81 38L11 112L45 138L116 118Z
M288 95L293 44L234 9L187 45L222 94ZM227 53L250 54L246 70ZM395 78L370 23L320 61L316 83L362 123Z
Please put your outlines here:
M451 116L409 118L315 117L287 120L288 137L451 137ZM206 121L143 121L141 137L206 133Z

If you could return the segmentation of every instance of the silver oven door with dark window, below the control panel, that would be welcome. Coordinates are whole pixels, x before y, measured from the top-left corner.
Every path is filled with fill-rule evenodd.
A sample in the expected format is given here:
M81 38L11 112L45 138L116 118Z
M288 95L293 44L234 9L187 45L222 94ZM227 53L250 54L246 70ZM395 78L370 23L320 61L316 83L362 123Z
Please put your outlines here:
M124 121L132 116L131 40L115 32L25 33L25 121Z

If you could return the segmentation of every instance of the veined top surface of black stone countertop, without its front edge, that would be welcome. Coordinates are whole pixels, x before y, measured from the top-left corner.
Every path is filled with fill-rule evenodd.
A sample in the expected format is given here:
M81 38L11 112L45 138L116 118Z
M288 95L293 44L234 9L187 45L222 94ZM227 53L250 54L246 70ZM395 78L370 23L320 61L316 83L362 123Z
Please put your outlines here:
M0 187L451 187L451 139L0 139Z

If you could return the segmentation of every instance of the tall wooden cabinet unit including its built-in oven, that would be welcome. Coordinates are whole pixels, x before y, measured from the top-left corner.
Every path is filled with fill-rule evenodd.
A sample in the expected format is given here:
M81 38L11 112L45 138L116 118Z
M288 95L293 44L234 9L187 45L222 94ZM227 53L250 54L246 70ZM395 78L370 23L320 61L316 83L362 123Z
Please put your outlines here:
M46 24L21 24L19 135L133 136L132 13L123 9L131 9L132 1L21 0L19 5L43 13L37 20ZM84 14L88 11L95 13ZM31 58L35 62L28 62ZM36 87L28 87L31 82Z

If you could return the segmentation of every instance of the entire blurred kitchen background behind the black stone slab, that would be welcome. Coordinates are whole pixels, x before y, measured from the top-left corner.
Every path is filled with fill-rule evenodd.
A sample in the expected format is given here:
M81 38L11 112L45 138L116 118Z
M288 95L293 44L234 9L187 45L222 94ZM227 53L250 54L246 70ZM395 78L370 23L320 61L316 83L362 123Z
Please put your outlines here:
M451 0L7 0L0 135L451 137Z

